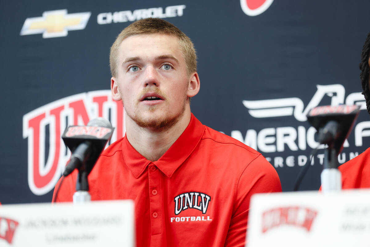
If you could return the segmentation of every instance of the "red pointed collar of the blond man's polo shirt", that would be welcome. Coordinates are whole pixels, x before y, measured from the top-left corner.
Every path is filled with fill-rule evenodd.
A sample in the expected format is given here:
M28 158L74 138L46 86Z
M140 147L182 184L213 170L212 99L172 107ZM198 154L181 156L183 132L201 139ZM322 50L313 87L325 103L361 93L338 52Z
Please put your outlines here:
M153 162L155 166L167 177L171 177L198 145L203 136L204 129L202 123L191 114L188 127L186 127L181 136L179 136L166 153L159 160ZM145 168L151 163L151 161L147 160L131 146L127 140L127 136L122 141L122 154L125 163L136 178L140 177L145 171Z

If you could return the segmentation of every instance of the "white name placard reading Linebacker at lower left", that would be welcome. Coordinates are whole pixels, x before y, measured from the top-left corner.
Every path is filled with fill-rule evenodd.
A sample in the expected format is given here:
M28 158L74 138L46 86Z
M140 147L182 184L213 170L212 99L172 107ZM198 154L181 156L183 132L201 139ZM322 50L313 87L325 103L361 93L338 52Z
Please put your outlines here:
M0 206L0 246L133 247L131 200Z

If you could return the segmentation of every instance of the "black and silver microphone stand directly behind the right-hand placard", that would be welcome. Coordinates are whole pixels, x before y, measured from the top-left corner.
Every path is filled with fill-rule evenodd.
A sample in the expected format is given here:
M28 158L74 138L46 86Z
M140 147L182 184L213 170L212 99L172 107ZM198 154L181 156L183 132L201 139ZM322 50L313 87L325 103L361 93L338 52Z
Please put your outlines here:
M321 189L323 193L342 190L342 173L338 170L337 152L330 144L324 151L323 171L321 172Z

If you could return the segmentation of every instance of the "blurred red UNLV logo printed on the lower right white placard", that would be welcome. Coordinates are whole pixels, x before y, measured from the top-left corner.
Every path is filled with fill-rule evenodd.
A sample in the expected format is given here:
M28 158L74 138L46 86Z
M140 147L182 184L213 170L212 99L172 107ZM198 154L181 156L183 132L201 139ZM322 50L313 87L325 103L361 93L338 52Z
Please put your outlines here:
M262 213L262 232L282 225L303 227L311 230L317 211L307 207L279 207Z

